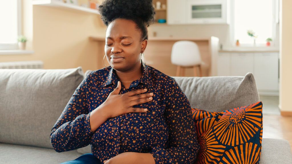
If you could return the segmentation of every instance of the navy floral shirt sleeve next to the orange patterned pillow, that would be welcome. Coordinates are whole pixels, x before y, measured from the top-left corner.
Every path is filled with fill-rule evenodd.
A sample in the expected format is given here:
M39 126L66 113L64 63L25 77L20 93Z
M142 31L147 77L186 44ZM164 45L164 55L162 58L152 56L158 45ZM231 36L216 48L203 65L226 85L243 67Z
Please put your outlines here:
M169 146L152 147L150 152L155 164L190 164L194 163L200 146L192 120L190 102L178 83L173 80L166 85L165 117L169 128Z

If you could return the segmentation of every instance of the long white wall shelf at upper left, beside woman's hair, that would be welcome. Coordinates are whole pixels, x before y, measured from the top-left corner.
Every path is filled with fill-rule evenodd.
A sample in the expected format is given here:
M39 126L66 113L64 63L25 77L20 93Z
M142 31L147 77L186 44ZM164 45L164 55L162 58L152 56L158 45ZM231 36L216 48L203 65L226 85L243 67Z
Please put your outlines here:
M67 8L67 9L84 11L84 12L88 12L88 13L100 14L98 12L98 10L96 10L96 9L78 6L78 5L74 5L74 4L68 4L68 3L64 3L63 1L58 1L58 0L32 0L32 4L33 5L62 7L62 8Z

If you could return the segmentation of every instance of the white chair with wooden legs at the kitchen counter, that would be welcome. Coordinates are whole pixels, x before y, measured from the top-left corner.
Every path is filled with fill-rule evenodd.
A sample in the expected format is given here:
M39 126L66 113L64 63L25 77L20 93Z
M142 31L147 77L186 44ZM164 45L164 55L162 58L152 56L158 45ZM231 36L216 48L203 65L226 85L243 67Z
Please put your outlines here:
M197 76L199 69L199 77L202 76L201 54L198 45L193 41L177 41L173 44L171 50L171 63L177 65L176 76L185 76L185 68L194 68L194 76Z

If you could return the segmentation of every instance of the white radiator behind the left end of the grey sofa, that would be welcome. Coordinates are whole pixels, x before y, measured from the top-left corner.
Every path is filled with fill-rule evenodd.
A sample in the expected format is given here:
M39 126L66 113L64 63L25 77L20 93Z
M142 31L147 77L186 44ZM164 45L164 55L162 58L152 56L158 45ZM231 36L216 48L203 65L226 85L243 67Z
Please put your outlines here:
M0 69L43 69L44 63L41 60L0 62Z

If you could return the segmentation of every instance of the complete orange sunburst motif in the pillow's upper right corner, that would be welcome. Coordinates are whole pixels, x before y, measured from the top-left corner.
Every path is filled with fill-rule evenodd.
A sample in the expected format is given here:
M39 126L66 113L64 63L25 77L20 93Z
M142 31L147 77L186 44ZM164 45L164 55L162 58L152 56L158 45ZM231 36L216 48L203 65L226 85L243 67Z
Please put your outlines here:
M260 130L262 105L256 104L224 112L214 127L214 134L221 143L231 146L243 144Z

